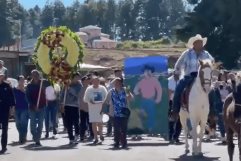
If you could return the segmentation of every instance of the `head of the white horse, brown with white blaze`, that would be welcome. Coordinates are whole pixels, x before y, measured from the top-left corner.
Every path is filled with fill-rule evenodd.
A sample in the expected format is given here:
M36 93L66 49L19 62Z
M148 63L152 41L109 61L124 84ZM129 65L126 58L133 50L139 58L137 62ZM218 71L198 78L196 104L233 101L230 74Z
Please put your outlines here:
M209 59L199 60L200 67L198 75L201 81L201 85L205 92L209 92L211 89L212 83L212 71L213 71L213 62Z

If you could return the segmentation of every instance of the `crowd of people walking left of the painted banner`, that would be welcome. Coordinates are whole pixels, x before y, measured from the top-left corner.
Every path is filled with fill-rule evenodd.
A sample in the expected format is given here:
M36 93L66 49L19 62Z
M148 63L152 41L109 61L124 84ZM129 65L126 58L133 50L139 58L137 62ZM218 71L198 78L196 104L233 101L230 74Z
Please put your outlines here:
M43 125L45 138L57 138L59 114L62 115L64 131L69 144L92 141L101 144L103 114L109 115L107 136L114 133L114 148L127 148L127 120L130 112L128 102L133 98L123 83L122 70L115 70L105 79L98 72L81 75L76 72L69 85L61 86L41 78L38 70L32 70L31 79L18 76L17 87L6 81L6 68L0 72L0 124L2 128L2 151L7 150L8 118L14 109L19 144L27 141L28 123L35 146L41 146ZM112 128L114 127L114 130ZM50 132L53 136L50 136Z

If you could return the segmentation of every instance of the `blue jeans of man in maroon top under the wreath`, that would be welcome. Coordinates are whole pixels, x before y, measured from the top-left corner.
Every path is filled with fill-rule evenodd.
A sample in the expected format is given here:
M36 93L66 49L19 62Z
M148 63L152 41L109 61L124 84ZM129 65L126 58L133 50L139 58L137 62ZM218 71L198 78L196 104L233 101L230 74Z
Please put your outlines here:
M40 108L38 111L31 111L30 114L30 128L33 135L33 141L39 142L43 129L44 120L44 108Z

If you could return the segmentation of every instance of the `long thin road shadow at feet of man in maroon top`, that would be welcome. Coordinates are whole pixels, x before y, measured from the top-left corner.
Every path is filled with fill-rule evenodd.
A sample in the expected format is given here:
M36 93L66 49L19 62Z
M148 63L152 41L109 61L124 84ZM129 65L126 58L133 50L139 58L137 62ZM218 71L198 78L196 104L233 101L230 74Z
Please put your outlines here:
M68 149L77 149L78 144L74 145L60 145L56 147L51 147L51 146L39 146L36 147L35 144L30 144L21 148L24 148L25 150L31 150L31 151L45 151L45 150L68 150Z

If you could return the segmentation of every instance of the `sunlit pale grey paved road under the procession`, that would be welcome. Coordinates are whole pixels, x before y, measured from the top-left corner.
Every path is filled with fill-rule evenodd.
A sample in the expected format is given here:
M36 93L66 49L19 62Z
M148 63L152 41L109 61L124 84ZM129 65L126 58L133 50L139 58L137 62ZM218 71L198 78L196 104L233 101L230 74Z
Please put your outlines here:
M86 142L70 147L67 134L59 134L56 140L43 139L43 146L38 149L31 141L18 145L17 138L15 125L10 123L8 151L0 155L0 161L228 161L226 146L220 145L218 140L203 144L203 158L193 158L191 154L184 155L184 144L168 145L158 137L143 137L141 141L130 139L128 150L112 150L112 138L106 138L102 145L92 146ZM30 133L28 139L31 140ZM237 146L234 160L238 161Z

